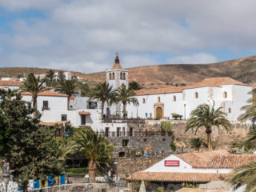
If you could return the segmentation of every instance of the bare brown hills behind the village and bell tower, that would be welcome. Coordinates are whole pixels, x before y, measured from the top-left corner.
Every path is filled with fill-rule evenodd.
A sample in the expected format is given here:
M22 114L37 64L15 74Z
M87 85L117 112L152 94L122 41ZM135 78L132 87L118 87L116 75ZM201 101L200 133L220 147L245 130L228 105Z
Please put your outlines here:
M122 64L122 63L121 63ZM33 67L0 68L0 76L26 75L30 72L43 74L49 69ZM186 85L202 81L203 78L230 77L250 85L256 84L256 56L238 58L213 64L177 64L158 66L139 66L127 68L129 81L144 84L146 88L164 87L185 83ZM72 75L87 79L89 82L104 82L105 72L83 74L72 72Z

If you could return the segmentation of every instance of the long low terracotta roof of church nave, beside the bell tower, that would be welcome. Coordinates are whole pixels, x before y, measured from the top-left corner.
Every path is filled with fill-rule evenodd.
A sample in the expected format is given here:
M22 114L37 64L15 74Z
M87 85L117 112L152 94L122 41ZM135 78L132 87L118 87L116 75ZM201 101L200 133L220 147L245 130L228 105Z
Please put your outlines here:
M165 87L161 89L154 89L154 90L137 90L136 96L138 95L147 95L147 94L170 94L170 93L180 93L185 86L171 86Z

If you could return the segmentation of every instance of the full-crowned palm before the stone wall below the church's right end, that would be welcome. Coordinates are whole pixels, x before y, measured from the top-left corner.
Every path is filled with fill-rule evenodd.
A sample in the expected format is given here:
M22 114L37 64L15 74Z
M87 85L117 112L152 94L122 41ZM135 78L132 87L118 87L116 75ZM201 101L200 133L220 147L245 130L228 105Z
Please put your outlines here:
M188 122L186 122L185 133L190 129L194 131L195 128L196 134L200 127L205 127L208 149L212 150L210 134L213 126L217 126L218 129L220 126L223 126L226 130L229 130L231 124L229 120L226 119L226 114L222 111L222 107L215 110L214 105L210 107L207 104L202 104L191 112L190 118L188 119Z

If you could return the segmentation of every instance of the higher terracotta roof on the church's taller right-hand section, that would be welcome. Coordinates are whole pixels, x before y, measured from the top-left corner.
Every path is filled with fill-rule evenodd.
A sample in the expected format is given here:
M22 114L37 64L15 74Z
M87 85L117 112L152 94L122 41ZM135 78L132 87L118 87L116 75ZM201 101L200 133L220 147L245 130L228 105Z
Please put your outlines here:
M202 80L202 82L197 82L192 86L187 86L186 89L193 89L198 87L204 87L204 86L223 86L223 85L241 85L241 86L247 86L246 84L242 82L238 82L234 80L233 78L205 78Z

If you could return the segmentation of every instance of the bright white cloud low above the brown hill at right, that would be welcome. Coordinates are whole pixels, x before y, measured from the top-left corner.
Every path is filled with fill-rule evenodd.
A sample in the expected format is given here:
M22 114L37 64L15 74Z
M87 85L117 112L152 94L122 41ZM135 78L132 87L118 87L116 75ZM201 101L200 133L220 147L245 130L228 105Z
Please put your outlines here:
M206 64L213 62L217 62L217 58L212 54L205 53L178 56L167 60L169 64Z

